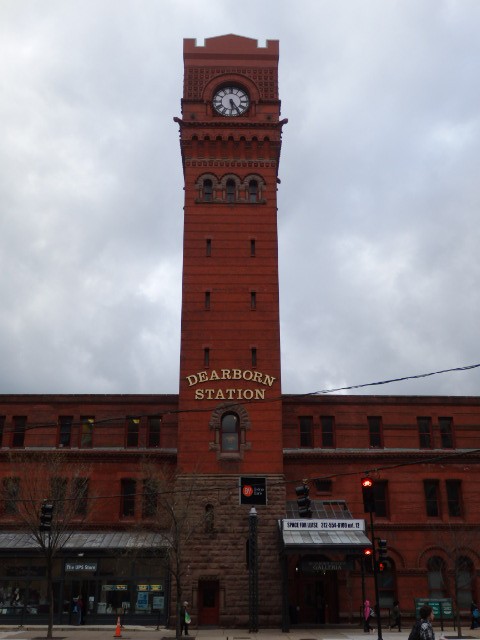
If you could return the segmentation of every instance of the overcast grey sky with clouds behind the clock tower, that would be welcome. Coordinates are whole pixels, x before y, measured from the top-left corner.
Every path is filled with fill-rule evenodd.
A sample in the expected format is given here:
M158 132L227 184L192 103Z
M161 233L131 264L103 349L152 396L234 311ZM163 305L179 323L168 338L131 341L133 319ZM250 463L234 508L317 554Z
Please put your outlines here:
M1 0L0 393L178 392L183 38L228 33L280 40L283 392L480 363L477 0Z

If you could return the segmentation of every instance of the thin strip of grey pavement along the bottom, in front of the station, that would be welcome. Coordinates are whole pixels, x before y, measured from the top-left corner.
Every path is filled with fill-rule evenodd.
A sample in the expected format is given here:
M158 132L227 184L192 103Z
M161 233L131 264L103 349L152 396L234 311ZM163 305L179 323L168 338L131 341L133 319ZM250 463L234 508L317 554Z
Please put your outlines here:
M388 631L382 629L383 640L406 640L410 628L406 627L401 633L398 631ZM441 636L447 639L457 638L457 632L452 628L445 628L442 632L440 625L435 625L435 636L437 640ZM46 637L45 625L29 625L25 627L2 627L0 626L0 640L41 640ZM109 640L115 637L114 627L105 626L54 626L54 640ZM185 637L185 636L184 636ZM471 630L468 627L462 628L462 637L465 639L474 638L480 640L480 629ZM121 630L122 640L170 640L175 638L174 629L160 627L137 627L125 626ZM280 629L260 629L258 632L250 633L247 629L195 629L192 628L188 636L190 640L197 638L202 640L378 640L378 634L367 635L359 627L335 627L335 628L314 628L295 629L288 633L283 633Z

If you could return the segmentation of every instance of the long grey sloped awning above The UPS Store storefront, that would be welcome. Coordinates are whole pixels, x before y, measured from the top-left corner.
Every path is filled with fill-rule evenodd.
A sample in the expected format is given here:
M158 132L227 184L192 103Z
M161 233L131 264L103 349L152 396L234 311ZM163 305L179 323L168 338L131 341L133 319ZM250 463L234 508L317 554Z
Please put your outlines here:
M38 546L31 533L4 531L0 533L0 551L31 551ZM64 549L158 549L168 546L165 536L141 531L75 531Z

